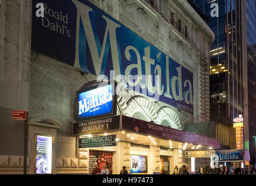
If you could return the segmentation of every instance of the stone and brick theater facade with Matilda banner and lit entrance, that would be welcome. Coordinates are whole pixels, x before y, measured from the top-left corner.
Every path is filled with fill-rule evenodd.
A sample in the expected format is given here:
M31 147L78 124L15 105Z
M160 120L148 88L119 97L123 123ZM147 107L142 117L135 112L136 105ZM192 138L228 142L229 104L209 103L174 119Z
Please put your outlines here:
M24 104L1 109L28 112L27 173L91 174L94 163L111 174L172 174L183 164L193 172L200 164L185 151L220 148L186 131L209 122L214 40L187 1L24 2ZM9 141L23 137L15 128ZM19 144L1 144L0 173L23 173Z

